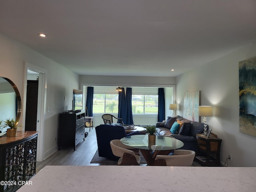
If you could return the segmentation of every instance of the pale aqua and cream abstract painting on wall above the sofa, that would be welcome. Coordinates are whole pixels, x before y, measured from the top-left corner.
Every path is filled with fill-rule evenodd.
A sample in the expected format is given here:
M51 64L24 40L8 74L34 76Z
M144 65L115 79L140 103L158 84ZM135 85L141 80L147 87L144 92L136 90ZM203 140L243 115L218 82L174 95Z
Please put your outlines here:
M198 106L200 105L200 91L188 91L184 94L183 117L200 122Z

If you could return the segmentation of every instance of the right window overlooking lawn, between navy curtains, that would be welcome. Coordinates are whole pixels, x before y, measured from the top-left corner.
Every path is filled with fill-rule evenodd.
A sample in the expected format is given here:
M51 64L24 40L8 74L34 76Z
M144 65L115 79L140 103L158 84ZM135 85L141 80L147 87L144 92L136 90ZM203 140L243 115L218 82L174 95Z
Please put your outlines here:
M133 114L157 114L158 95L132 95Z

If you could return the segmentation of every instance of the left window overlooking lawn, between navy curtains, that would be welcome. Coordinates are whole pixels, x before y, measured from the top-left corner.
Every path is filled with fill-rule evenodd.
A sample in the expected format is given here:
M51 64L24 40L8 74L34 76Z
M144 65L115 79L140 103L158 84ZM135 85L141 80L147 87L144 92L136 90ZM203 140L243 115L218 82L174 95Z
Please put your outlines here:
M93 94L92 113L118 113L118 94Z

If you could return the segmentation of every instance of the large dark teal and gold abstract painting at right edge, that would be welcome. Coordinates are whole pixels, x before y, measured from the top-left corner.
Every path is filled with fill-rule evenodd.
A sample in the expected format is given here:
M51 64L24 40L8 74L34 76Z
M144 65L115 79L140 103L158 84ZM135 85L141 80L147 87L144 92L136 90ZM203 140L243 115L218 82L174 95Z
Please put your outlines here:
M240 132L256 137L256 57L239 62Z

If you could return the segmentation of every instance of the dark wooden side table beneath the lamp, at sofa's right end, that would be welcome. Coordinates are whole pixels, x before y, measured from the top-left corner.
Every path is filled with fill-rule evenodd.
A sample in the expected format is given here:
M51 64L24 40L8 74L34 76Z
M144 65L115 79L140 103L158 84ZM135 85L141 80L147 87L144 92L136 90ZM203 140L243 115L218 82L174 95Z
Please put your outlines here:
M196 156L196 159L206 166L212 163L220 166L220 144L222 139L211 135L207 138L203 134L196 134L196 141L199 153L204 154L202 156Z

